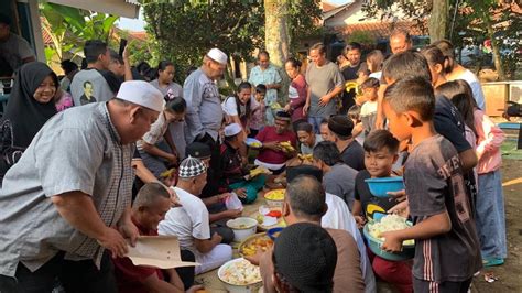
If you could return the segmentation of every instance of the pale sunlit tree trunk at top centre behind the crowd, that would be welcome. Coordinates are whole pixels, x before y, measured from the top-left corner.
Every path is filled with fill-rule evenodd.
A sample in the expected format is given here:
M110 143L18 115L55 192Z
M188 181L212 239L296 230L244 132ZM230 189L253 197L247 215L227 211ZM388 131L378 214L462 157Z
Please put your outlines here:
M289 0L264 0L264 44L270 61L278 67L283 79L278 90L279 101L287 102L290 79L284 72L284 62L290 56L290 33L287 25Z

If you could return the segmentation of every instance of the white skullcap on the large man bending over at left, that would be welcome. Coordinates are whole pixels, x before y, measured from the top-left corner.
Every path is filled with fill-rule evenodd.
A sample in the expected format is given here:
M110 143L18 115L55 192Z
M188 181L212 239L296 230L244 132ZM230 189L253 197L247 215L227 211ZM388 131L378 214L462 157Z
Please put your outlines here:
M163 94L143 80L129 80L121 84L117 98L161 112L165 107Z

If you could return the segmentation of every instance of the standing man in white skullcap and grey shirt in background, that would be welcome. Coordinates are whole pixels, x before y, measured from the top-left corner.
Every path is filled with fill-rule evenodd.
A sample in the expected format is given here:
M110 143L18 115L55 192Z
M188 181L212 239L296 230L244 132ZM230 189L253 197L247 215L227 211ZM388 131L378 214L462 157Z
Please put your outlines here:
M218 156L218 131L221 128L222 109L216 82L227 68L227 55L211 48L203 57L203 65L193 72L183 85L183 98L187 102L186 142L203 142L213 150L210 166L216 167Z

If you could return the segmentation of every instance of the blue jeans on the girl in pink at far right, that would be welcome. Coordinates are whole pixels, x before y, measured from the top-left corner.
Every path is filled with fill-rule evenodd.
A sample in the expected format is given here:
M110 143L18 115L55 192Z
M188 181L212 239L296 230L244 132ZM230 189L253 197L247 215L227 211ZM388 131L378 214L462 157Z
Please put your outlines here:
M500 170L478 175L476 224L483 259L508 257L501 180Z

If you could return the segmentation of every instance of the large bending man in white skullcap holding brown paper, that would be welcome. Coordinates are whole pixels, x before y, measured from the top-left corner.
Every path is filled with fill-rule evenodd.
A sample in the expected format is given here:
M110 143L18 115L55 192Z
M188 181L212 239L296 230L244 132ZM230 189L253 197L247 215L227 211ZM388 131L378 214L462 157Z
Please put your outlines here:
M163 109L146 82L45 123L0 191L0 292L117 292L110 257L138 229L130 218L134 142Z

